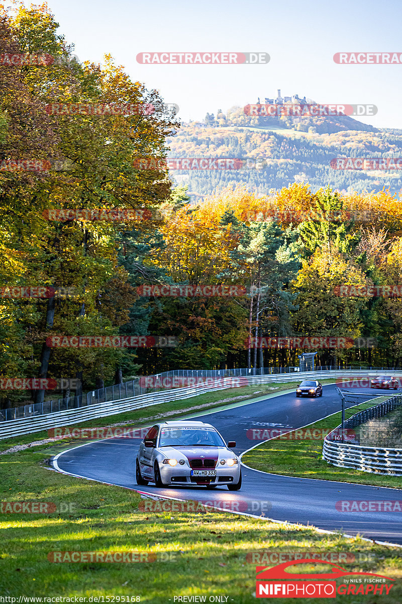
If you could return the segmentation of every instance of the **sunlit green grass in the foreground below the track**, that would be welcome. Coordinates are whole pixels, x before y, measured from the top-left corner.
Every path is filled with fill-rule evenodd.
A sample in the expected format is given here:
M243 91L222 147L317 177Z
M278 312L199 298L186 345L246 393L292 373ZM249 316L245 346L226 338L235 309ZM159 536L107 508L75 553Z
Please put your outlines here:
M50 471L43 460L52 452L52 447L43 446L0 458L3 501L72 504L66 513L0 514L1 596L104 596L106 602L107 596L127 599L138 595L141 602L155 604L169 604L169 599L174 604L174 596L206 596L207 602L210 596L228 596L228 603L251 603L256 601L255 564L247 562L246 556L263 550L371 554L371 561L341 566L402 577L400 549L360 538L325 535L312 527L216 510L141 512L140 496L133 491ZM212 492L206 491L206 499L213 499ZM128 550L168 552L175 555L175 561L63 564L49 562L47 557L51 551ZM327 566L317 565L312 572L327 570ZM300 567L298 572L302 572ZM401 602L402 588L396 583L389 596L378 602ZM321 601L308 600L309 604ZM342 601L377 602L366 596L344 596Z

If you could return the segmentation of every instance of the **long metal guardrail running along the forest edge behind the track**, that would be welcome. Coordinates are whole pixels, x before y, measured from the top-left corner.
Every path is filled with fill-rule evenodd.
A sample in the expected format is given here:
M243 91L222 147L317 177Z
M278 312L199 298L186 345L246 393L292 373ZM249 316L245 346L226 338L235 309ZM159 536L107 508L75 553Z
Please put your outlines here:
M386 374L389 373L386 372ZM294 374L271 374L263 376L249 377L224 377L215 384L197 384L190 388L174 388L160 392L141 394L140 396L129 397L127 399L96 403L77 409L69 409L57 413L48 413L36 417L27 417L17 420L10 420L0 424L0 440L8 439L22 434L31 434L43 429L56 428L58 426L68 426L74 423L86 422L99 417L113 416L125 411L141 409L149 405L159 405L171 400L189 399L198 396L203 392L213 392L226 390L227 388L236 388L246 385L269 384L269 382L289 382L298 381L313 377L322 379L328 377L369 377L378 375L378 371L369 370L327 370L327 371L306 371ZM394 371L394 376L402 377L402 371Z

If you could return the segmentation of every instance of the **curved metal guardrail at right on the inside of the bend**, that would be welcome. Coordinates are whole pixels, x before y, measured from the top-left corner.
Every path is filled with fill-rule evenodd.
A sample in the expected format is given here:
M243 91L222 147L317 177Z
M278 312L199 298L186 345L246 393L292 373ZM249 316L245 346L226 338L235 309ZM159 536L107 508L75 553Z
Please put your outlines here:
M345 429L355 428L374 417L383 417L390 411L402 405L402 394L393 396L365 411L356 413L353 417L345 420ZM402 475L402 449L385 447L369 447L359 443L341 443L334 439L334 432L342 426L335 428L324 438L322 457L338 467L353 467L363 472L374 472L375 474L388 474L393 476Z

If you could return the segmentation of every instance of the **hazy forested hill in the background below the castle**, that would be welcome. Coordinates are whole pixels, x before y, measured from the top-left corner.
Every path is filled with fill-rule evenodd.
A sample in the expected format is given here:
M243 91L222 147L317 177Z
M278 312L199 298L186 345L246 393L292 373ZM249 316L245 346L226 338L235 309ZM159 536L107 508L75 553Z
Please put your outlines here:
M347 115L251 117L234 107L207 114L202 123L182 123L168 145L172 158L250 160L241 170L171 170L175 182L188 185L192 201L239 183L259 195L303 181L313 191L327 184L343 193L402 188L400 170L331 168L338 157L402 156L401 130L377 129Z

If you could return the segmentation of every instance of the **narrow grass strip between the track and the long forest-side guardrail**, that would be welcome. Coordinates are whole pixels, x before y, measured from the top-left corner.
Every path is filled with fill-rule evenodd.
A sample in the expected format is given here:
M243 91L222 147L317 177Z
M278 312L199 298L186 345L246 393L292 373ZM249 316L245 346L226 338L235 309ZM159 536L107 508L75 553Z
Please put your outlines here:
M270 394L272 395L281 391L293 389L295 388L295 384L298 383L300 383L300 380L289 381L283 384L275 384L274 382L270 384L254 384L240 388L228 388L227 390L206 392L204 394L199 394L199 396L191 397L190 399L159 403L156 405L150 405L149 407L145 407L143 409L116 413L113 416L102 417L90 421L83 420L83 422L77 422L76 424L69 426L69 428L83 428L84 426L93 428L96 426L111 426L116 423L121 423L121 425L124 426L147 426L149 425L149 422L154 422L160 418L169 417L169 419L174 419L175 417L183 416L183 413L198 413L198 411L210 410L221 407L222 405L241 403L245 400L263 397L264 395L269 396ZM334 383L334 380L327 379L323 380L321 383L330 384ZM0 435L2 425L7 425L7 423L0 423ZM63 426L62 422L60 423L60 426ZM0 452L6 451L15 445L27 445L28 443L32 443L36 440L48 439L48 437L48 431L42 430L40 432L33 432L33 434L26 434L20 437L2 439L0 440ZM60 442L61 441L55 443L55 446L58 446L58 443ZM69 445L71 443L78 443L81 441L78 441L77 439L64 439L62 442Z

